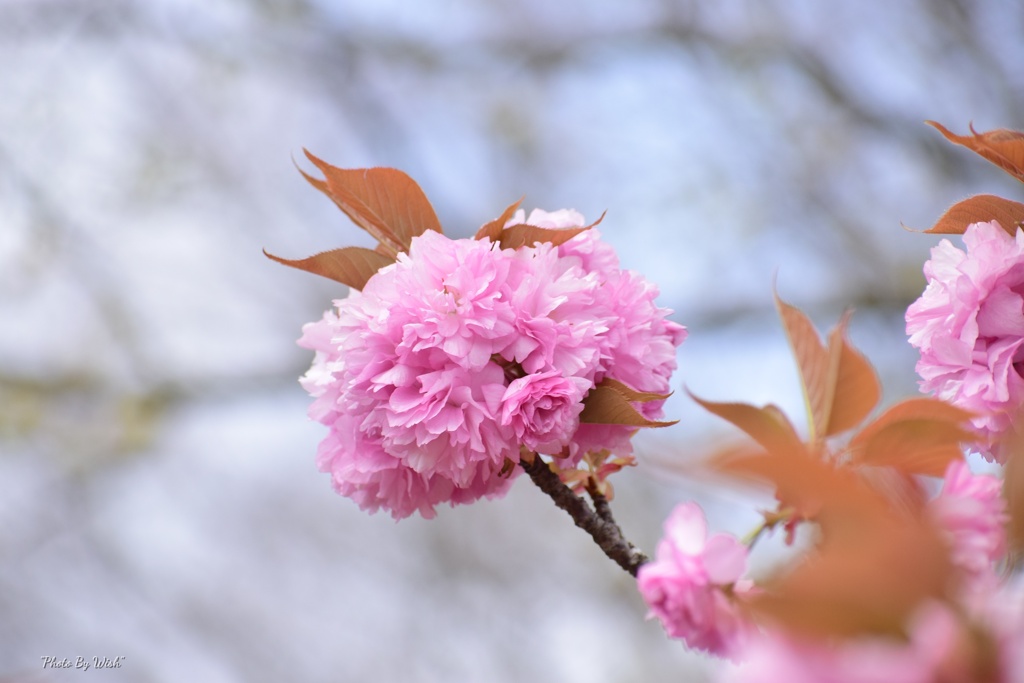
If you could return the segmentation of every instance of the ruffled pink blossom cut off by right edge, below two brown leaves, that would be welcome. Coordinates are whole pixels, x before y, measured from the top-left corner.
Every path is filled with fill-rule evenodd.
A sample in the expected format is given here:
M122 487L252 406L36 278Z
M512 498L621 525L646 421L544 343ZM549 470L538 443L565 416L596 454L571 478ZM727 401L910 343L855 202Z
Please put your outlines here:
M906 331L921 349L922 390L976 412L985 456L1004 462L996 441L1024 403L1024 232L974 223L964 244L967 251L948 240L932 249Z

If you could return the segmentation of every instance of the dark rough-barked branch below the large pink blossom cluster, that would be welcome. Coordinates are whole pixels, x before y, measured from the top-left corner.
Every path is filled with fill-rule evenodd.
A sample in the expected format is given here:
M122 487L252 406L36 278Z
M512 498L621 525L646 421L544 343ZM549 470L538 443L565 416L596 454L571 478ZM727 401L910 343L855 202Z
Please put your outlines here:
M594 543L604 551L605 555L632 575L637 575L637 570L647 561L647 556L623 538L618 524L611 517L607 500L604 501L602 514L598 514L584 499L562 483L558 475L552 472L540 457L535 456L530 462L523 459L519 464L534 483L547 494L556 506L569 513L577 526L590 533ZM595 506L601 507L601 504L595 500Z

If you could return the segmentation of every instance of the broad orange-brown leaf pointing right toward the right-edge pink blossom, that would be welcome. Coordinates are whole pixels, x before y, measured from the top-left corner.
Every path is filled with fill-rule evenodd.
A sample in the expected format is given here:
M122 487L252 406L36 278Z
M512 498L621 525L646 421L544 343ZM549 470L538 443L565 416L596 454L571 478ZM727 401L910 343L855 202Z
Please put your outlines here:
M971 414L937 398L910 398L883 413L850 440L854 463L893 467L906 474L942 476L977 439Z

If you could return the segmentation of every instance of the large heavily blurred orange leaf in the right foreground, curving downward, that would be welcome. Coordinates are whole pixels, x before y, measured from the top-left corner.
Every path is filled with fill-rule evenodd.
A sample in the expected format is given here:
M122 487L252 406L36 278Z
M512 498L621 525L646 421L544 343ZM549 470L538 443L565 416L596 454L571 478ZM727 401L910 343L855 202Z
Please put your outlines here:
M922 514L923 497L894 502L859 470L794 454L745 454L719 468L769 481L782 509L820 527L815 552L761 584L750 602L760 618L815 637L899 634L923 601L950 588L946 547Z

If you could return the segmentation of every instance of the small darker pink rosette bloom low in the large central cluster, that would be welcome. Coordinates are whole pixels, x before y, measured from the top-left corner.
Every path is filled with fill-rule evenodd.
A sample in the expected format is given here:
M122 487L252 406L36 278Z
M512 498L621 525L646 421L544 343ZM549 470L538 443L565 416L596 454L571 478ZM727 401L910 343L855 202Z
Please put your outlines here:
M560 454L580 425L589 388L586 380L555 370L515 379L502 397L501 424L530 451Z

